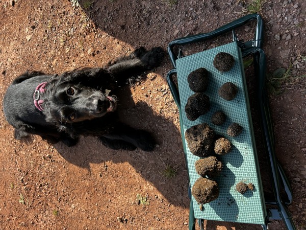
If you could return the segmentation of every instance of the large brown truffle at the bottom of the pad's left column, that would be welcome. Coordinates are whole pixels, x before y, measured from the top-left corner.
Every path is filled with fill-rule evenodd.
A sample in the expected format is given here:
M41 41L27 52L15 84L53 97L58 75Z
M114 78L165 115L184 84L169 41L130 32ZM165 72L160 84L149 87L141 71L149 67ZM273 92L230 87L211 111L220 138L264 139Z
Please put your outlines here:
M218 183L205 177L199 177L191 189L191 194L198 203L209 203L219 196Z

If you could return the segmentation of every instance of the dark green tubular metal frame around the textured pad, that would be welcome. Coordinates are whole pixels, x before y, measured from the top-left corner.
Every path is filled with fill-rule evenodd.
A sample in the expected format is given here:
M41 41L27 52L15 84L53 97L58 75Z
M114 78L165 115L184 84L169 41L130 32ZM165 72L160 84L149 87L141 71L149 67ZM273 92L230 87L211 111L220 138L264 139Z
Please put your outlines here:
M251 20L257 20L256 31L254 33L254 39L246 42L238 41L235 29L247 24ZM272 121L270 116L270 109L269 109L269 101L266 93L266 56L264 51L262 50L263 45L263 21L259 14L249 14L244 17L241 17L225 26L222 26L216 29L213 32L205 33L205 34L198 34L192 35L184 38L179 38L176 40L171 41L168 44L168 53L170 56L170 60L172 66L174 67L173 70L169 71L167 75L167 82L170 87L171 94L173 99L179 107L180 110L180 120L181 118L181 102L179 97L179 92L176 89L175 84L172 82L171 76L176 73L176 59L182 56L182 52L179 49L179 54L175 56L173 48L175 45L184 45L199 41L204 41L207 39L211 39L227 32L233 31L233 40L238 42L239 47L241 48L242 56L253 55L253 63L254 63L254 70L255 76L259 81L258 85L258 101L259 101L259 110L260 110L260 117L261 117L261 127L263 130L263 140L265 151L268 159L268 166L270 171L270 178L271 178L271 185L273 188L274 193L274 200L265 200L267 205L273 205L275 209L267 209L267 216L266 216L266 223L263 225L263 229L267 229L267 225L270 220L273 219L282 219L284 220L288 230L295 230L296 225L292 219L292 216L288 210L287 205L291 204L292 202L292 191L290 187L290 183L281 167L279 165L276 156L275 156L275 137L273 133ZM181 126L182 129L182 126ZM182 130L181 130L182 131ZM184 138L184 132L182 131L182 138ZM184 145L183 145L184 146ZM184 152L186 154L186 147L184 146ZM284 200L281 197L281 190L284 189L287 195L287 199ZM188 191L189 197L191 197L190 188ZM193 213L193 204L190 202L190 211L189 211L189 230L195 229L195 218ZM200 228L203 229L202 221L198 220L198 224Z

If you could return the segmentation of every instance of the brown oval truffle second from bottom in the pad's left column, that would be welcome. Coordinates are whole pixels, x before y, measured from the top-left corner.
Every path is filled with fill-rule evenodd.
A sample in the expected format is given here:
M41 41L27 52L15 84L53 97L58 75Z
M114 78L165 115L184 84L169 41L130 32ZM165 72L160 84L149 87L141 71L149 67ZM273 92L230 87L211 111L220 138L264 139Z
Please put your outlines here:
M222 163L219 162L219 160L215 156L198 159L195 162L194 166L195 171L200 176L208 176L210 178L220 175L220 172L223 168Z

